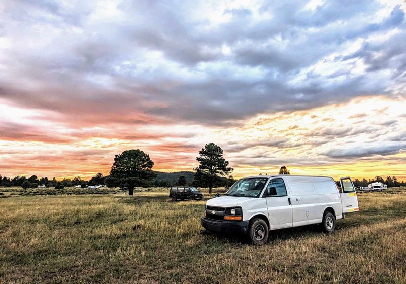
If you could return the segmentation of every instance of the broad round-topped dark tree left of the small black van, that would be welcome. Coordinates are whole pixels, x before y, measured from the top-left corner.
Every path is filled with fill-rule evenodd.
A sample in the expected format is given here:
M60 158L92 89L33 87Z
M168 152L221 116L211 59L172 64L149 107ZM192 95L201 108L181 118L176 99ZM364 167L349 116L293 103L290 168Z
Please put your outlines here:
M154 162L140 149L127 150L114 157L110 176L116 186L128 188L128 195L134 194L134 187L149 186L156 174L151 170Z

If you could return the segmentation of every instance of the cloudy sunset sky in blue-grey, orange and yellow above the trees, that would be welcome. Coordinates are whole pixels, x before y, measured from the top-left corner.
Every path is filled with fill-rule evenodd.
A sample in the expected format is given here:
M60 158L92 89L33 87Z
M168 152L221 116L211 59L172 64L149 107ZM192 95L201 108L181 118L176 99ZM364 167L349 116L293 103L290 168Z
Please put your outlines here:
M247 4L249 3L249 4ZM0 174L191 170L406 180L402 1L0 2Z

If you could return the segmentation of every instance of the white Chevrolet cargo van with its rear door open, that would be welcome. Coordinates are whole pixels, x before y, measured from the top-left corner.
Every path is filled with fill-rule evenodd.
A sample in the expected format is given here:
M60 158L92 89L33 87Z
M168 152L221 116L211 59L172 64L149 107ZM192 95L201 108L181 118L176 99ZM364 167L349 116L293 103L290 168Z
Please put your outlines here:
M209 232L248 234L257 245L266 242L269 230L320 223L331 233L335 220L359 210L350 177L343 177L340 183L342 192L332 177L246 177L225 196L206 202L201 225Z

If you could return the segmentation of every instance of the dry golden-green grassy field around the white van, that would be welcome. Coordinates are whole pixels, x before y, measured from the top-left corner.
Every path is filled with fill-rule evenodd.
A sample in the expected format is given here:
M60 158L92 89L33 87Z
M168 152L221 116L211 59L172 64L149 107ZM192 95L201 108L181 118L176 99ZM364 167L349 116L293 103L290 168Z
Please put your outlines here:
M2 189L0 189L2 192ZM406 283L405 189L358 194L360 212L271 232L265 246L200 235L205 201L167 191L0 199L0 282Z

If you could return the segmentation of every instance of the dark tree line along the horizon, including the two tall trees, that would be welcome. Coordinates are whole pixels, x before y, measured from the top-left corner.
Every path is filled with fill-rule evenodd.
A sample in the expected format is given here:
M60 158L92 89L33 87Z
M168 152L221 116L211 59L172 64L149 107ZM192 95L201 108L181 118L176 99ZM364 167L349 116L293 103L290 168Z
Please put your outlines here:
M179 176L176 184L169 181L155 180L156 173L152 171L154 162L150 159L149 155L141 151L126 150L121 154L115 155L114 162L108 176L103 176L101 172L97 173L90 180L86 181L81 179L80 176L74 179L63 179L57 181L55 177L49 180L48 177L41 177L36 175L28 177L15 176L13 179L7 176L0 176L0 186L5 187L22 187L22 188L36 188L38 185L45 187L55 187L55 189L62 189L64 187L78 186L82 188L92 185L106 185L110 188L120 187L123 190L128 190L129 195L133 195L135 187L170 187L170 186L195 186L195 187L208 187L209 193L212 192L213 187L217 186L231 186L235 180L229 175L233 168L229 167L229 162L223 157L223 150L214 143L206 144L203 149L198 152L199 156L196 157L199 166L194 168L194 180L191 184L187 184L185 176ZM279 174L290 174L290 171L282 166ZM353 181L356 187L368 186L373 182L385 183L388 187L406 186L406 183L399 182L395 176L387 176L384 180L381 176L376 176L373 180L356 179Z

